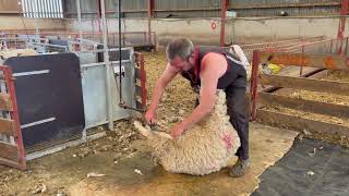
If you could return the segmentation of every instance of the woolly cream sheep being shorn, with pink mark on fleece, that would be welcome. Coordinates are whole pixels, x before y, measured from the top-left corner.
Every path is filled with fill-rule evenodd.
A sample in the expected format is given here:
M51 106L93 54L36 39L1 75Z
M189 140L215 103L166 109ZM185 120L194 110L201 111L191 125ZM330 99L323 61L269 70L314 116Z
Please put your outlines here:
M205 175L217 172L240 147L239 135L227 115L224 90L217 90L216 105L208 117L178 138L151 131L137 121L134 126L146 137L164 169L171 173Z

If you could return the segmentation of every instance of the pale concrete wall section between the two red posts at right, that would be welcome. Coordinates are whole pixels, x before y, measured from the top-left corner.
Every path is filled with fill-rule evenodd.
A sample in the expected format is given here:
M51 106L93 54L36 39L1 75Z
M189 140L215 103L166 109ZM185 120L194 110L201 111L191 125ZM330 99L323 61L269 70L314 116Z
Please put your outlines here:
M232 37L228 34L227 38L231 37L237 42L261 42L315 36L336 38L339 19L240 19L229 23Z

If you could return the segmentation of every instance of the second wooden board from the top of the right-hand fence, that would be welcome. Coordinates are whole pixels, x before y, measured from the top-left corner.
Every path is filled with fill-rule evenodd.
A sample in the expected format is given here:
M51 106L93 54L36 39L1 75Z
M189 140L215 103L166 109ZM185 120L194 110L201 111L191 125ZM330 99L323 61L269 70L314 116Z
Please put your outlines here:
M261 75L260 82L263 85L349 96L349 83L346 82L320 81L314 78L265 74Z

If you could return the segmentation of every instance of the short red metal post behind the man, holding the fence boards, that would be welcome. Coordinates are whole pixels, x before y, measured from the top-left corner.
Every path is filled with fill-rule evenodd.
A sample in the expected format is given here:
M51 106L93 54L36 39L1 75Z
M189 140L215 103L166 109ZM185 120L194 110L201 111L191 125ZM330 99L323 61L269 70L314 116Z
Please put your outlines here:
M257 87L258 87L258 64L261 62L260 51L253 51L252 76L251 76L251 120L255 120L257 112Z

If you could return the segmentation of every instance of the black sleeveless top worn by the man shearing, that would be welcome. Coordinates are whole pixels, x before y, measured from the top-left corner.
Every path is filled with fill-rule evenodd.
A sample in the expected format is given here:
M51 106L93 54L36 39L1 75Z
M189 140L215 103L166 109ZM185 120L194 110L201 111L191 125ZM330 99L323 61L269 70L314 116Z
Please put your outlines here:
M228 62L226 73L218 78L217 89L227 89L230 87L246 87L246 72L244 68L241 64L234 62L238 60L232 53L219 47L195 47L196 59L194 69L181 72L181 75L189 79L192 86L201 85L201 60L208 52L224 54ZM219 64L217 64L217 66L219 66Z

